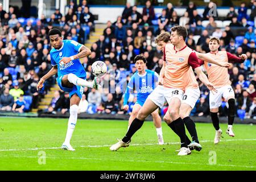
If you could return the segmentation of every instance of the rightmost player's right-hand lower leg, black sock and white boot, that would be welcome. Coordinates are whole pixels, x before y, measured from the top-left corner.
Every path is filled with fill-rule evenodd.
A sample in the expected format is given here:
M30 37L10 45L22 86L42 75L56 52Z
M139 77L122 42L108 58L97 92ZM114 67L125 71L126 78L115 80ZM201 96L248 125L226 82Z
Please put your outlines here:
M228 100L229 109L228 109L228 129L226 130L226 134L228 134L230 137L234 137L234 133L232 130L232 126L234 123L234 115L236 111L236 105L234 98L230 98Z

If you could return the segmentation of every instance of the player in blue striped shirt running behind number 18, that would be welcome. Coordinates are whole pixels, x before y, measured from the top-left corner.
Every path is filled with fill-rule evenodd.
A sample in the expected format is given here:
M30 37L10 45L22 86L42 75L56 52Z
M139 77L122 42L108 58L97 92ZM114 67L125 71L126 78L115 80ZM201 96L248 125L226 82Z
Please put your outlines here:
M129 100L130 93L134 93L135 90L137 91L137 102L133 106L133 111L129 118L128 129L131 122L133 122L133 120L136 118L147 97L158 84L158 74L154 71L146 69L146 58L144 56L137 55L134 58L134 62L137 72L135 72L130 78L126 88L125 98L123 100L123 109L127 111L129 109L127 101ZM158 114L158 109L151 113L151 115L156 127L156 134L158 135L158 144L164 144L161 118Z

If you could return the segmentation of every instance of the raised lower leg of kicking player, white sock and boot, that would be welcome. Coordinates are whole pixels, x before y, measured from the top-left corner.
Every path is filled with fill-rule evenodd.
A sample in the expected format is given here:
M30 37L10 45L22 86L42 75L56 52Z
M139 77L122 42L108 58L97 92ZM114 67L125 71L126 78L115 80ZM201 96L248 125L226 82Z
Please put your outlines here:
M74 85L86 86L86 87L94 88L94 89L97 90L98 89L98 84L100 82L100 78L94 77L94 80L92 82L89 82L89 81L86 81L82 78L77 77L73 73L69 73L68 74L68 81L71 82Z

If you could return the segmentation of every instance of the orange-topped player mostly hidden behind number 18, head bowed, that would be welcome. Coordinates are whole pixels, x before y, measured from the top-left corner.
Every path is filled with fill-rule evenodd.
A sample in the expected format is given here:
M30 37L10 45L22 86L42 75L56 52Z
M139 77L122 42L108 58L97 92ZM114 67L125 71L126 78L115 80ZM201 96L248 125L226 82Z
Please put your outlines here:
M171 44L170 41L171 34L169 32L164 32L156 37L155 43L158 44L159 49L161 49L164 52L164 47L166 44ZM220 65L221 67L230 67L229 63L218 63L216 60L214 60L209 55L206 55L205 53L199 53L196 52L196 56L199 57L201 60L207 60L209 63ZM165 61L163 63L163 68L161 69L161 73L159 76L159 84L163 84L163 73L164 68L166 64ZM185 126L187 127L187 130L189 134L192 137L191 140L187 137L187 144L188 147L191 150L197 150L200 151L202 146L199 144L199 139L197 137L197 131L196 131L196 125L195 122L189 117L189 114L191 113L193 107L195 107L195 104L197 100L199 100L200 97L200 90L199 85L196 81L195 73L193 72L192 68L189 68L190 70L187 72L187 79L185 81L185 93L183 94L183 98L181 101L180 106L180 117L183 119ZM170 115L165 115L164 121L168 124L168 126L171 127L171 129L176 133L176 129L174 126L174 123L172 123Z

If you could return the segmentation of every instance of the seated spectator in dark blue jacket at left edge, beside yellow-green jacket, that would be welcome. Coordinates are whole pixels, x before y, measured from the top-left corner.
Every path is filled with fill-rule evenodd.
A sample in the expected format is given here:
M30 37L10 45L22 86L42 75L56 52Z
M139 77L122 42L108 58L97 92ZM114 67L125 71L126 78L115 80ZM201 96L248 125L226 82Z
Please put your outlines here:
M14 104L14 98L9 94L9 88L5 88L0 96L0 110L11 111Z

